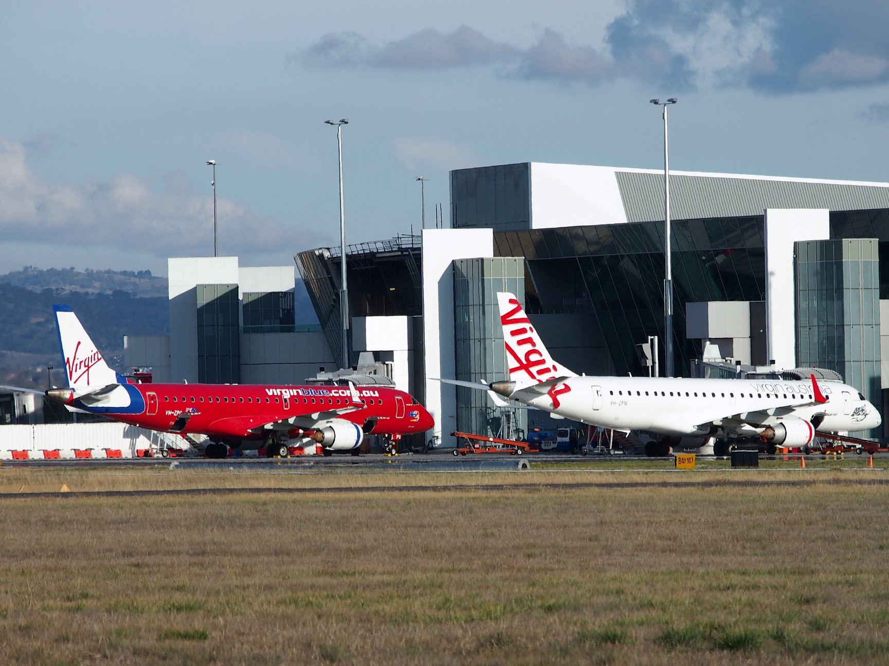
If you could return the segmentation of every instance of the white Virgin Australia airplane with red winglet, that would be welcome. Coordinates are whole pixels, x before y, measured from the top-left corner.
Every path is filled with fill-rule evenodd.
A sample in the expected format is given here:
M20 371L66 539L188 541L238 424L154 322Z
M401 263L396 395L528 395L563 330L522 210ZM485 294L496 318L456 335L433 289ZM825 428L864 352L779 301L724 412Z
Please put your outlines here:
M882 422L857 389L819 383L814 375L811 381L578 376L549 355L513 294L497 299L509 381L443 381L593 426L660 435L645 446L648 455L669 455L680 444L715 444L715 452L725 454L728 440L740 437L759 437L769 448L803 446L819 432L869 430Z

